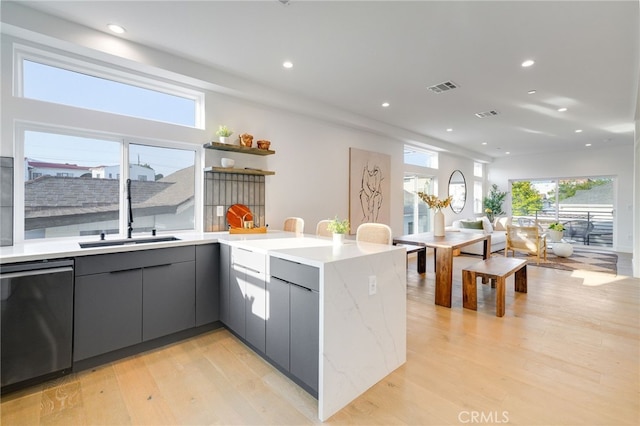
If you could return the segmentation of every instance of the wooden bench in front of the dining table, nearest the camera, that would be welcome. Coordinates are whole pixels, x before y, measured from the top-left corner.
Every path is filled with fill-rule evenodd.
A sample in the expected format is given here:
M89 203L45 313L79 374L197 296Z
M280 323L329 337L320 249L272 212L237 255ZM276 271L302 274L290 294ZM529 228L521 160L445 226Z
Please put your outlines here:
M478 310L476 278L491 280L496 287L496 316L504 316L505 281L515 272L515 290L527 292L527 261L512 257L490 257L462 270L462 306ZM483 280L484 281L484 280Z

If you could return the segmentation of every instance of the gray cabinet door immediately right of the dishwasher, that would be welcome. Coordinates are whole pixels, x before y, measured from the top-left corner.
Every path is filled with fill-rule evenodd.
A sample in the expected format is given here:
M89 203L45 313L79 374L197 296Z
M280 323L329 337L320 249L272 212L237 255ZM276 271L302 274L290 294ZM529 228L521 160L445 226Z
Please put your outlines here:
M142 269L76 277L73 360L142 341Z

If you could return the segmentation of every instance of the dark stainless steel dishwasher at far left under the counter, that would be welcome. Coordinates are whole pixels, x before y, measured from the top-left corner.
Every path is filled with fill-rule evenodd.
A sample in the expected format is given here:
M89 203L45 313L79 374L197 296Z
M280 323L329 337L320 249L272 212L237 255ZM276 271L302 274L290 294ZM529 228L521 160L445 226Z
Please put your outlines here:
M72 366L73 260L0 265L1 393Z

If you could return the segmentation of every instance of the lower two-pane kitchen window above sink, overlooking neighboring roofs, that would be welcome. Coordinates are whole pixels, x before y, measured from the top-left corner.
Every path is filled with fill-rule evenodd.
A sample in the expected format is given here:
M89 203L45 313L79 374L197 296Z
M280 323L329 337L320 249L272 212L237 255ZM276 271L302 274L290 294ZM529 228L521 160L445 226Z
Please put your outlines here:
M25 240L124 235L121 176L132 180L134 233L195 228L195 147L56 129L21 134Z

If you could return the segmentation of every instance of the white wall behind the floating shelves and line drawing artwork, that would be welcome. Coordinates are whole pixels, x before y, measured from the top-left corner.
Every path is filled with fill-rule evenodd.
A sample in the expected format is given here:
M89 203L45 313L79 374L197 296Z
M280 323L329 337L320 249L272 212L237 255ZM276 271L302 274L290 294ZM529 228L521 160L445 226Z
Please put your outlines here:
M214 105L207 114L207 128L226 124L241 133L271 141L271 156L252 156L207 150L207 166L219 166L220 158L236 160L235 167L257 167L274 171L266 177L266 220L281 229L284 219L305 220L305 232L314 233L321 219L347 218L349 214L349 148L391 156L390 226L402 231L403 144L398 140L303 115L264 107L225 95L211 94ZM215 139L214 139L215 140Z

